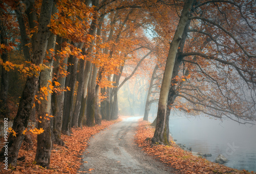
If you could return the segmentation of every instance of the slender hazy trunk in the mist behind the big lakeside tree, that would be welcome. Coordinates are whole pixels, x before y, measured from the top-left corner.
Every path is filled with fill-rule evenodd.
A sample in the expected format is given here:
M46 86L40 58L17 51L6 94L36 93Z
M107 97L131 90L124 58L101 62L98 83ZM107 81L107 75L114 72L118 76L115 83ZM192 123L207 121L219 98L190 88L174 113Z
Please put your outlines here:
M153 83L155 80L155 75L156 75L157 69L158 69L158 65L156 64L154 71L152 73L152 77L150 80L150 87L148 88L148 92L147 92L147 96L146 96L145 112L144 112L144 117L143 117L143 120L146 120L146 121L148 121L148 113L150 113L150 105L151 105L150 96L152 94Z

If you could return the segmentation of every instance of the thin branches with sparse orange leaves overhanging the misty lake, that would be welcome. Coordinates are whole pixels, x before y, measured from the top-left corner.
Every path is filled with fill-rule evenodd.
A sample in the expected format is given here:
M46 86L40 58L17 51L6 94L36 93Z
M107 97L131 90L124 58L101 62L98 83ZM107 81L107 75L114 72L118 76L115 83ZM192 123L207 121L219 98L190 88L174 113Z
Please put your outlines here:
M168 102L172 105L168 107L176 107L194 114L202 112L221 119L227 117L245 124L255 119L252 114L253 105L255 105L252 99L255 94L254 81L251 76L254 63L249 65L249 69L241 67L240 64L248 62L248 58L250 58L249 62L254 61L254 55L251 52L253 46L246 44L247 41L245 41L250 39L247 33L253 35L254 29L244 17L245 14L251 16L249 14L251 12L246 10L248 8L243 10L241 7L251 6L251 3L218 2L220 4L215 4L216 1L194 6L193 10L197 14L200 13L200 16L194 14L195 16L189 17L189 20L193 19L194 22L194 25L190 26L194 29L190 29L189 32L198 34L189 35L190 40L187 40L185 51L195 52L181 51L177 55L184 63L183 68L178 66L179 76L173 76L173 86L169 90L168 97ZM233 9L232 12L230 9ZM242 25L238 25L236 21L241 21ZM193 75L189 76L190 73ZM174 74L177 72L174 71ZM209 88L209 86L216 87ZM176 97L178 101L174 104ZM164 129L162 125L161 130L166 132L167 128L166 126ZM161 138L156 139L159 141Z

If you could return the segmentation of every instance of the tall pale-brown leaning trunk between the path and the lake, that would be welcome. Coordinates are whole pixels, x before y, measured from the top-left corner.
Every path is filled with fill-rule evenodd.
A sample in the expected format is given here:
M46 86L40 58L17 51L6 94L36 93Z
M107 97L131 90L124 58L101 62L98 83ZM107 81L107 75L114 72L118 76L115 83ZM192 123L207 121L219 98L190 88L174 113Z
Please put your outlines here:
M167 98L169 92L170 81L172 80L172 73L174 69L174 63L176 59L176 55L178 52L178 47L180 44L180 40L182 38L185 26L187 21L189 20L189 10L191 9L191 5L194 0L187 0L184 4L179 24L177 26L174 38L170 43L169 53L167 56L166 66L163 75L163 81L160 90L160 97L158 103L158 112L157 112L157 123L156 130L154 133L154 137L152 138L152 142L164 143L168 144L166 136L166 109L167 109Z

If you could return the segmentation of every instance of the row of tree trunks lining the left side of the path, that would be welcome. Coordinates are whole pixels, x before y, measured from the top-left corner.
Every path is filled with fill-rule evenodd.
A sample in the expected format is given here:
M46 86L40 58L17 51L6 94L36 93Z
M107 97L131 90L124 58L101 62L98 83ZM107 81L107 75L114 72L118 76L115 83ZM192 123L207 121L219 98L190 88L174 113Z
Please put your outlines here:
M55 13L56 11L56 7L55 5L53 6L54 4L53 2L54 1L52 0L42 1L40 18L38 21L37 21L38 15L36 14L36 10L34 10L33 2L27 4L26 11L25 11L27 14L27 19L25 19L24 15L20 13L22 10L20 10L18 7L17 9L15 9L15 13L19 23L20 35L22 35L22 46L24 49L23 51L24 51L25 59L31 60L31 62L36 66L39 66L44 63L44 65L48 68L35 72L32 76L27 77L25 89L22 94L22 97L20 98L18 112L13 122L13 130L17 133L17 135L15 138L13 136L9 136L9 139L8 139L9 147L10 147L8 149L9 150L8 161L13 165L16 165L18 151L24 139L23 133L28 125L31 112L35 111L35 109L33 110L33 105L34 104L37 105L37 103L34 103L34 97L37 92L39 92L39 94L42 94L42 97L44 98L44 100L40 101L41 104L36 106L36 110L38 111L38 121L39 121L37 124L38 125L37 128L44 129L44 133L39 134L37 137L38 148L37 148L36 157L35 157L35 161L37 162L37 164L43 167L49 166L52 140L54 143L63 145L64 143L60 138L61 132L66 135L71 135L71 126L77 127L82 125L85 111L87 113L86 116L87 116L88 126L92 126L95 123L101 124L101 116L98 111L100 85L99 83L97 83L97 76L98 76L98 82L100 82L102 78L102 74L104 73L103 72L104 70L102 67L99 68L96 66L96 64L91 62L94 58L91 55L93 55L92 53L95 46L95 39L94 39L95 31L98 26L97 35L101 35L101 23L103 23L104 15L101 15L101 17L99 17L96 12L93 14L91 26L90 26L90 29L88 30L88 35L91 35L89 37L93 39L89 43L86 43L87 46L89 46L88 49L82 48L83 47L82 42L78 42L78 41L75 42L74 40L71 41L71 45L73 45L76 48L82 49L83 54L89 57L89 58L87 57L88 60L86 61L86 63L85 63L85 60L82 60L82 59L80 60L80 64L79 64L80 74L78 77L78 82L79 82L78 93L76 97L76 102L74 102L74 99L75 99L74 90L75 90L75 84L77 83L76 78L77 78L77 68L78 68L78 61L79 61L78 57L74 55L70 55L68 60L68 59L62 59L60 58L60 56L59 57L56 56L55 57L56 62L53 62L51 51L49 51L49 50L55 50L55 53L57 53L58 51L61 51L62 42L65 41L60 36L56 38L56 35L53 34L54 32L51 34L51 32L49 31L48 26L50 24L51 14L52 12ZM90 1L87 1L87 2L90 2ZM99 1L95 0L91 2L92 2L92 7L94 7L95 11L97 11L97 6L99 4ZM53 8L55 8L55 10L53 10ZM117 33L115 33L116 43L119 42L119 37L121 35L121 32L124 31L125 23L129 21L129 16L132 13L133 13L133 9L129 11L129 14L127 16L124 16L123 22L122 23L120 22L121 25L119 25L118 30L116 30ZM119 17L118 12L116 12L114 16L115 17L113 20L113 24L116 23L117 18ZM38 27L37 28L38 32L37 33L35 32L30 38L31 44L32 44L31 55L29 52L30 50L28 49L28 44L30 44L29 43L30 40L28 39L29 37L26 34L25 21L28 21L29 29L31 31L33 31L35 27ZM126 26L126 28L129 29L129 26ZM115 28L113 27L111 29L111 32L108 38L109 41L113 39L114 30ZM4 34L4 32L1 32L1 34ZM67 37L63 36L63 38L67 38ZM1 41L2 40L3 39L1 39ZM58 42L58 45L55 48L56 40ZM69 40L72 40L72 39L69 39ZM47 50L48 50L48 53L46 55ZM100 53L102 52L103 51L101 50ZM106 54L108 54L109 50L105 49L105 52ZM112 48L109 54L110 58L112 58L114 52L115 52L115 48ZM149 54L150 53L148 53L147 55ZM2 55L2 58L3 58L3 55ZM139 63L141 63L141 61ZM62 77L62 75L59 72L59 66L63 66L63 64L70 65L66 69L69 74L66 78ZM93 69L92 69L92 64L93 64ZM122 82L121 85L119 85L122 69L123 69L123 66L120 67L120 73L114 79L116 86L118 88L114 89L112 93L111 93L111 89L108 89L108 95L110 96L109 98L114 98L114 104L112 105L113 107L109 102L109 107L108 107L109 110L108 110L108 116L107 116L108 120L118 118L117 92L118 92L118 89L123 85L123 83L129 79L129 78L126 78L124 82ZM136 67L135 69L137 70L138 67ZM134 72L132 73L132 75L134 74ZM54 78L52 81L53 75L54 75ZM132 75L130 76L130 78L132 77ZM4 75L2 75L2 80L3 79L4 79ZM51 95L50 93L51 90L50 92L48 92L48 94L46 93L43 94L42 93L43 91L42 90L40 91L40 89L42 88L47 88L47 90L49 91L49 89L52 88L51 85L56 85L58 84L57 82L59 83L59 86L55 86L55 87L58 87L60 89L69 87L70 91L66 91L66 92L62 91L60 93L54 93L53 95ZM38 88L38 84L39 84L39 88ZM6 86L7 85L5 85L5 87ZM88 91L88 94L87 94L87 91ZM4 90L2 90L1 92L4 92ZM86 105L86 103L88 104ZM75 104L75 110L73 111L74 104ZM111 107L112 107L113 113L111 113ZM51 120L51 117L49 117L50 115L54 116L52 120ZM53 123L52 127L51 127L51 123ZM3 157L3 152L4 152L4 148L1 151L1 157Z

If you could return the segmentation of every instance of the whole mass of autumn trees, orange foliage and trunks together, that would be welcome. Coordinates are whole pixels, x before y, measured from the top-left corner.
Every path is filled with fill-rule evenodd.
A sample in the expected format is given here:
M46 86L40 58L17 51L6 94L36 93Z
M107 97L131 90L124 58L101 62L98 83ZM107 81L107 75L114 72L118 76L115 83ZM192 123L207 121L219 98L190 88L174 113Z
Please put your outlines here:
M118 91L135 76L151 79L134 82L144 120L158 102L153 143L168 144L172 109L256 120L254 1L0 2L0 112L13 119L12 165L30 120L38 125L30 130L38 134L35 161L47 167L52 143L64 145L61 133L118 118ZM23 76L19 96L9 90L12 73Z

